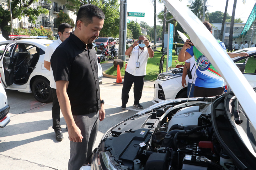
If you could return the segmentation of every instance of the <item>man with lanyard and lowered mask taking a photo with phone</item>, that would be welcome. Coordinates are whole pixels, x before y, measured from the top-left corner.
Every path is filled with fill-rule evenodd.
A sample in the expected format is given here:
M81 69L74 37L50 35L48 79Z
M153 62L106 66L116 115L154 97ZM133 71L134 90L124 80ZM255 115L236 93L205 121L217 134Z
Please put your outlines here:
M140 35L139 40L135 41L125 52L129 56L126 71L124 73L124 84L122 89L122 109L126 109L129 99L129 91L134 83L134 104L133 106L143 108L139 101L142 96L144 77L146 75L146 64L148 57L154 57L154 51L150 48L149 41L145 35Z

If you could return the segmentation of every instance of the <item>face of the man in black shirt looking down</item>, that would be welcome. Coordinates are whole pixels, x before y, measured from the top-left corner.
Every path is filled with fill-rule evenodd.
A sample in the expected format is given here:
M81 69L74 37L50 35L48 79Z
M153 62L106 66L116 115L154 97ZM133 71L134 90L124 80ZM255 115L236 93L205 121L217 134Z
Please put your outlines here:
M104 19L99 19L98 17L92 17L92 23L85 26L84 23L81 25L81 40L85 44L91 44L103 27Z

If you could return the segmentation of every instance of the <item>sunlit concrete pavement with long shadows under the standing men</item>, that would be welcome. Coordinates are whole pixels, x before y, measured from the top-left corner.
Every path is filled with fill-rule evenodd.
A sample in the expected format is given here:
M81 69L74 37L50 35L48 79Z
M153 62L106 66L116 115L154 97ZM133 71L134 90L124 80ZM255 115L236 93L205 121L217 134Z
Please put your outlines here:
M114 79L103 78L101 96L105 100L106 118L100 122L95 147L103 134L113 125L142 109L133 105L133 90L126 110L120 108L122 85L112 84ZM61 114L60 123L64 139L55 140L52 129L52 103L37 102L32 94L6 90L11 106L11 122L0 129L1 170L66 170L69 160L68 131ZM153 105L154 89L144 87L141 104L144 108Z

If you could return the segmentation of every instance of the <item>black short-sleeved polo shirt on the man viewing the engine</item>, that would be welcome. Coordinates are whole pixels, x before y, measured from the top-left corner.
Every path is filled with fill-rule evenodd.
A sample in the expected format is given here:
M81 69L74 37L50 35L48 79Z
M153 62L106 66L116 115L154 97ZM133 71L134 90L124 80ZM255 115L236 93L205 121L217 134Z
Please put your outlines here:
M55 81L69 81L69 96L73 115L84 115L100 109L97 55L92 44L86 45L70 33L54 51L50 63Z

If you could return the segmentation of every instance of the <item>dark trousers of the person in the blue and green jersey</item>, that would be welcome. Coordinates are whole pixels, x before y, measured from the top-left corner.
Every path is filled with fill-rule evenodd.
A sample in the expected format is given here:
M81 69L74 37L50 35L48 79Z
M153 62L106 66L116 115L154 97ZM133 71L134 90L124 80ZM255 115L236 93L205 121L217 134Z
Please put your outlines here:
M224 87L206 88L194 86L194 97L214 97L222 95Z

